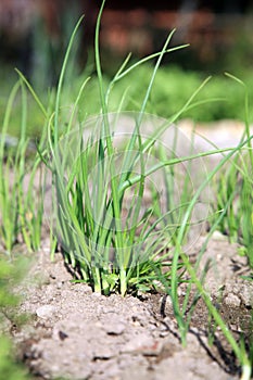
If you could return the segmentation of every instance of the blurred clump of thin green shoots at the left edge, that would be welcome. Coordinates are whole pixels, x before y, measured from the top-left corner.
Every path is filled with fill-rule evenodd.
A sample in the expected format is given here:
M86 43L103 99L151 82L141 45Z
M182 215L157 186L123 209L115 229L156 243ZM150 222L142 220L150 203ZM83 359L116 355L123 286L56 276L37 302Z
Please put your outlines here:
M22 114L20 137L12 139L13 147L7 147L13 104L21 96ZM27 94L23 81L18 80L10 94L0 138L0 241L9 254L17 241L29 251L40 245L43 208L43 176L39 156L28 160ZM29 172L29 175L26 175ZM35 177L38 191L35 192Z

